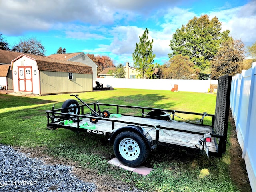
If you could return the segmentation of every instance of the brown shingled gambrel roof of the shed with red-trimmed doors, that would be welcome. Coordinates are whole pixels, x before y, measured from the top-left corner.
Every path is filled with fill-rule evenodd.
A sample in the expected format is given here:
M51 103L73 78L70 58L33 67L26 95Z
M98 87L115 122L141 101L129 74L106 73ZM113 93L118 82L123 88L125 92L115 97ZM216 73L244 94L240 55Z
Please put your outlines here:
M38 70L40 71L54 71L54 72L72 72L72 73L81 73L81 74L93 74L92 67L85 65L80 62L60 60L56 58L50 58L45 56L31 55L31 54L22 54L16 59L12 60L12 64L15 60L26 56L36 60ZM12 70L12 67L11 67Z

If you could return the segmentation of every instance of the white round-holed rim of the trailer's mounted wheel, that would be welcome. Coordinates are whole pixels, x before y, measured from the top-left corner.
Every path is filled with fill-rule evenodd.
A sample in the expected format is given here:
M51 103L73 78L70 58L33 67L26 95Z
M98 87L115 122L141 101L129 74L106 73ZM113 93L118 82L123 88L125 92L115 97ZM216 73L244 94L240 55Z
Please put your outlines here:
M121 156L128 161L136 160L140 155L140 147L138 143L131 138L124 138L120 142L118 149Z

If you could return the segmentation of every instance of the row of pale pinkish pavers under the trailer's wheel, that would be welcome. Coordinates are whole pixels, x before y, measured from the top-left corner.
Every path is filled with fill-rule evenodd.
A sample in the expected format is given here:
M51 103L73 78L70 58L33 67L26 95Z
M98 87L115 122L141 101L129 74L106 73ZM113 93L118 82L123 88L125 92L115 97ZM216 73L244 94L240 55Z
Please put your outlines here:
M125 170L138 173L140 175L148 175L153 170L152 168L148 168L148 167L144 167L144 166L128 167L128 166L123 165L117 158L113 158L113 159L109 160L108 163L112 164L114 166L123 168Z

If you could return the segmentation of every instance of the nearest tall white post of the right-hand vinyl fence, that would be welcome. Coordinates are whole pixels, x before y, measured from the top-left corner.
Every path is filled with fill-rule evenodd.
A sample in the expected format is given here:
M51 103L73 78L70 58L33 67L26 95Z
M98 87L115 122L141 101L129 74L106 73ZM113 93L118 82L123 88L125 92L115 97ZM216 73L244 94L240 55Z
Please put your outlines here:
M246 132L244 136L244 148L243 148L243 153L242 153L242 158L245 157L246 154L246 149L248 146L248 136L249 136L249 131L250 131L250 122L252 121L251 119L251 111L252 111L252 100L253 100L253 89L254 89L254 69L255 69L256 63L252 63L252 72L251 72L251 84L250 84L250 95L249 95L249 102L248 102L248 119L246 121ZM254 106L255 107L255 106Z

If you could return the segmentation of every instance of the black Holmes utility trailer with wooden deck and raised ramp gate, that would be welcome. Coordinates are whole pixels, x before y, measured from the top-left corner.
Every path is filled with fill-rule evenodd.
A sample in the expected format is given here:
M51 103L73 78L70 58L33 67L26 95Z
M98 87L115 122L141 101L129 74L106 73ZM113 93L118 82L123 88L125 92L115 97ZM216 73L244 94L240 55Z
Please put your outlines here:
M65 128L109 136L116 158L137 167L158 144L194 148L208 156L222 156L226 150L231 78L219 78L215 115L160 108L83 102L78 95L66 100L62 108L46 111L47 128ZM101 111L101 108L111 109ZM97 110L98 109L98 110ZM97 111L96 111L97 110ZM125 112L130 110L130 113ZM140 111L140 112L138 112ZM122 113L124 112L124 113ZM201 116L196 122L177 121L180 114ZM211 124L204 124L205 117Z

